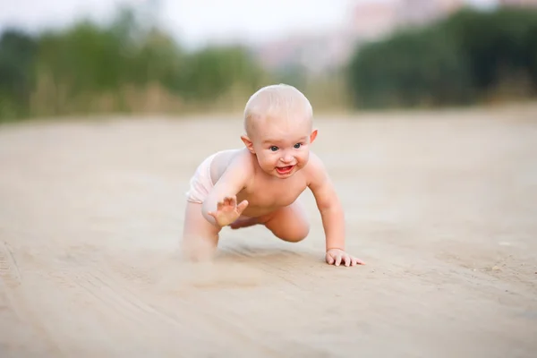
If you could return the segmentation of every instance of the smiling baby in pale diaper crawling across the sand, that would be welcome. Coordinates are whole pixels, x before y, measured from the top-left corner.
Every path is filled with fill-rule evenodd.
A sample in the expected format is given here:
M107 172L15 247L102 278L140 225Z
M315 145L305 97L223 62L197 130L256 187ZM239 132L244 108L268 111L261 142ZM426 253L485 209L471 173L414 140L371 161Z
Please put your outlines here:
M363 264L345 252L343 209L320 158L310 150L317 137L312 115L309 100L293 86L271 85L251 96L244 110L245 147L211 155L192 176L183 248L203 243L214 252L224 226L264 225L286 242L300 242L310 225L297 199L310 188L326 234L328 264Z

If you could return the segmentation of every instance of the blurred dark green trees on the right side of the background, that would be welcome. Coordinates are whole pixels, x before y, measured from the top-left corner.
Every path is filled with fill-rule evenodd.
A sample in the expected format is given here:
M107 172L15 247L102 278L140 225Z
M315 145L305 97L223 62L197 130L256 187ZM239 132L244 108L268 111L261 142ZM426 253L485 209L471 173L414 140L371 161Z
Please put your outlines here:
M359 47L347 67L354 106L465 105L504 83L530 96L529 87L537 87L535 29L535 11L465 9Z

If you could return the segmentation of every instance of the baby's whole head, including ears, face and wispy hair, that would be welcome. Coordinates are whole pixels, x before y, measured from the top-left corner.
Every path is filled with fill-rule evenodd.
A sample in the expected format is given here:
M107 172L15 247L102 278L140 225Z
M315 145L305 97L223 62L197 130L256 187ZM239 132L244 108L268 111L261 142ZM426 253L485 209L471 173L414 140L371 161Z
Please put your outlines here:
M269 175L289 177L308 163L312 128L310 101L300 90L277 84L255 92L244 109L241 138Z

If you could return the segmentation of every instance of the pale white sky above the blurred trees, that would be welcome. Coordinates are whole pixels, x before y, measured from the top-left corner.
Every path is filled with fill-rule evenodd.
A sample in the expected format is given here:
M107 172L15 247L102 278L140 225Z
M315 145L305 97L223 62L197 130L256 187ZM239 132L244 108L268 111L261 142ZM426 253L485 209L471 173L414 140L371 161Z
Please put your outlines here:
M0 30L16 25L26 30L56 28L89 15L106 20L115 4L148 4L151 0L0 0ZM371 0L153 0L158 16L187 46L214 38L276 38L289 30L336 26L348 4ZM385 1L385 0L373 0ZM469 0L490 4L495 0Z

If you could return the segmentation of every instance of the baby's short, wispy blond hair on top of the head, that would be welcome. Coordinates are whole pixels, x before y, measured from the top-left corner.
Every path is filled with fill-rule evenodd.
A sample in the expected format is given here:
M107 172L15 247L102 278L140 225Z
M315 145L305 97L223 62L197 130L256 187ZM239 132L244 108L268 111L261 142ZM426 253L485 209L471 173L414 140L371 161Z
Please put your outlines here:
M311 121L313 109L308 98L300 90L285 83L265 86L252 94L246 102L244 130L250 136L260 119L290 120L292 115L304 115L303 119Z

